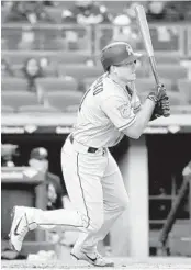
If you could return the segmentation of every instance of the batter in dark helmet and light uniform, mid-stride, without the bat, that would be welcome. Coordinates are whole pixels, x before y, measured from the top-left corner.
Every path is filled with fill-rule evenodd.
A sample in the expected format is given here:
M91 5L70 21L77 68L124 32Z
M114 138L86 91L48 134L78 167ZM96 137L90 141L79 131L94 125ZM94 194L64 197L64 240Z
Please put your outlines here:
M127 207L128 196L108 147L116 145L125 135L139 138L151 119L170 110L161 85L148 89L141 104L134 87L139 57L124 42L102 49L104 74L85 93L74 132L61 149L64 179L75 209L43 211L15 206L10 232L15 250L21 250L29 230L61 225L81 232L71 250L75 258L99 267L113 266L113 261L98 252L97 245Z

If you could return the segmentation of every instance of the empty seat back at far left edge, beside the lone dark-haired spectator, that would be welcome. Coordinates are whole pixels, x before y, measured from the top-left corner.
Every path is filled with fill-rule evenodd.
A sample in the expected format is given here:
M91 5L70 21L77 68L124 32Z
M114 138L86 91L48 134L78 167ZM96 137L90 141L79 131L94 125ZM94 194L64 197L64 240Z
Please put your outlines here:
M5 77L1 83L2 91L26 91L27 81L22 78Z

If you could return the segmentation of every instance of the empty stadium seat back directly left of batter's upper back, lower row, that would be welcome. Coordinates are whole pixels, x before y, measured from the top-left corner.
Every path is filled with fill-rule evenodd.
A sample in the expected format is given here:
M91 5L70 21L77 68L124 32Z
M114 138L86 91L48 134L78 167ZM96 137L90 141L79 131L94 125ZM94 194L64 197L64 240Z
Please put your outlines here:
M48 92L47 101L50 106L65 111L67 106L80 104L82 93L71 91Z

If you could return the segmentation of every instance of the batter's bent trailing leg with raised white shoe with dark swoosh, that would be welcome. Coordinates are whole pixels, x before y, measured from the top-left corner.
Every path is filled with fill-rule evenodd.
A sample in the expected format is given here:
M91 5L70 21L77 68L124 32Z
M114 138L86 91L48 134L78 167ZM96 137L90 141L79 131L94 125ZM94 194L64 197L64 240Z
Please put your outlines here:
M14 207L10 240L15 250L21 250L26 233L37 226L46 229L52 225L61 225L65 229L85 232L96 232L101 227L103 196L100 179L106 161L96 156L85 160L86 157L87 155L75 151L67 139L61 151L61 167L68 194L76 210L42 211L34 207ZM98 169L94 165L100 168L100 175L94 173Z

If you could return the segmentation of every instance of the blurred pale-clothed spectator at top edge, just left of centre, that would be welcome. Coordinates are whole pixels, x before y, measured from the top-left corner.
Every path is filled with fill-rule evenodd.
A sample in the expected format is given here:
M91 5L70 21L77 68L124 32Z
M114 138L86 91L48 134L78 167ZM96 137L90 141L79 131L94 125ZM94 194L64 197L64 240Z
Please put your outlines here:
M64 23L78 23L82 25L111 22L111 14L105 5L92 0L76 1L75 7L63 11L61 18Z

